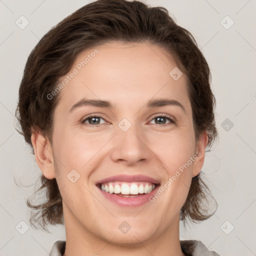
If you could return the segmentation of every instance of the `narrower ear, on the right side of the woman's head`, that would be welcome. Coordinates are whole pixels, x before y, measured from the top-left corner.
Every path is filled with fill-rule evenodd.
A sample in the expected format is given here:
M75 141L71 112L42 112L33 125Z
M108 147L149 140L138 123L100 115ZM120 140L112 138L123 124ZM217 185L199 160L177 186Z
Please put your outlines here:
M200 136L195 146L195 154L197 158L194 160L192 176L196 176L202 168L205 156L205 148L208 143L207 131L205 130ZM194 157L195 158L195 157Z

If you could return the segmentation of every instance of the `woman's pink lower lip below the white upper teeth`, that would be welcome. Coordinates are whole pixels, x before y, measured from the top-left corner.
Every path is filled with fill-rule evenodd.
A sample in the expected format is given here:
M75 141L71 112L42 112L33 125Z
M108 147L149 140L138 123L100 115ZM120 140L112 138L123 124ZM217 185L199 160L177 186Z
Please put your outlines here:
M116 203L117 205L135 207L135 206L143 205L146 202L150 202L149 197L155 193L156 188L158 188L158 186L159 185L156 185L155 188L148 194L143 194L138 196L129 196L129 197L120 196L114 193L110 194L108 192L102 191L99 187L97 188L108 200Z

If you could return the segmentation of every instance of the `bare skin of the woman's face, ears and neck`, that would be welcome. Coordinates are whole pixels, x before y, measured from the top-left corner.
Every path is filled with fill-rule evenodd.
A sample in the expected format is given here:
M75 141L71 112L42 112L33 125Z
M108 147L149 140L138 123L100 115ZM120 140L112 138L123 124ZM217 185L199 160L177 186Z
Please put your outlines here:
M45 177L56 178L62 196L64 255L184 255L179 211L191 178L201 170L208 141L206 132L195 141L187 78L169 75L177 65L156 45L108 42L96 48L99 52L59 92L52 144L40 132L31 136L38 166ZM93 49L82 51L70 70ZM113 108L85 105L70 112L83 97L109 100ZM150 99L166 97L185 111L176 105L145 107ZM89 119L81 123L100 113L99 126ZM157 122L161 114L176 122ZM118 126L123 118L131 124L125 132ZM95 186L117 174L144 174L164 184L198 150L201 154L154 202L117 206ZM80 175L74 183L66 177L72 169ZM131 226L125 234L118 228L123 221Z

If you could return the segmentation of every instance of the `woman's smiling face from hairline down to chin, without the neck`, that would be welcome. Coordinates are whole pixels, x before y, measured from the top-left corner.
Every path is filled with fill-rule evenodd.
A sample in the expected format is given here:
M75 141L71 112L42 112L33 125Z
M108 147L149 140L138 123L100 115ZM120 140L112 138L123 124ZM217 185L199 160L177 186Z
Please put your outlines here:
M77 56L58 92L54 167L41 168L56 177L66 228L115 243L178 232L207 142L195 141L185 74L173 79L177 65L156 45L95 48Z

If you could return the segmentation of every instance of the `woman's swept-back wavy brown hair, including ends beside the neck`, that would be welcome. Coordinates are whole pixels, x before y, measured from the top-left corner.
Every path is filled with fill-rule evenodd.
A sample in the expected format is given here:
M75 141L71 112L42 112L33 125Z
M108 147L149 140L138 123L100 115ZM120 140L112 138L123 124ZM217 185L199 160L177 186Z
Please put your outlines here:
M53 112L60 93L52 99L47 95L70 70L79 52L116 40L149 42L174 57L188 78L195 139L206 130L207 147L210 148L218 135L214 120L215 98L210 89L208 64L194 37L176 24L166 8L127 0L97 0L82 6L52 27L33 48L24 68L15 113L25 141L32 147L31 131L36 129L52 142ZM41 186L36 192L46 189L46 201L33 205L27 199L27 205L37 210L30 215L30 224L34 226L34 222L40 222L47 230L49 223L63 224L62 199L55 178L41 175L40 179ZM210 194L199 173L192 178L187 199L180 210L183 222L186 218L201 221L214 213L207 214L207 209L202 207L208 202L206 192Z

